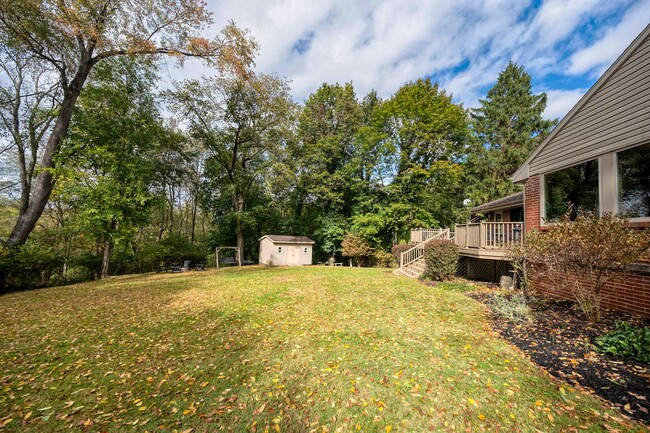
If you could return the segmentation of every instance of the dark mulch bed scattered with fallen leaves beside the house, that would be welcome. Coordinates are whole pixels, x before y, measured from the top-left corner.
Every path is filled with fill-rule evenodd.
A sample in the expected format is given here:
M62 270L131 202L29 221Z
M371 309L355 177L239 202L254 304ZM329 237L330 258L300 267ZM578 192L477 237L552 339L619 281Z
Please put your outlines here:
M490 305L489 292L468 296ZM609 401L630 418L650 425L650 365L597 353L594 338L614 329L615 320L650 326L650 320L606 311L600 323L584 320L571 301L545 299L532 305L534 321L511 323L495 314L492 324L552 376Z

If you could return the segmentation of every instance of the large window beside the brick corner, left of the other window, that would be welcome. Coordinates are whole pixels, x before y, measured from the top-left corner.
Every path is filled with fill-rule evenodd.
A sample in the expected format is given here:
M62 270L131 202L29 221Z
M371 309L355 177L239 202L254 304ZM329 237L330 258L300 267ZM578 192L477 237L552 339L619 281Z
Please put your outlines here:
M544 175L546 221L559 219L571 208L598 212L598 160L583 162Z

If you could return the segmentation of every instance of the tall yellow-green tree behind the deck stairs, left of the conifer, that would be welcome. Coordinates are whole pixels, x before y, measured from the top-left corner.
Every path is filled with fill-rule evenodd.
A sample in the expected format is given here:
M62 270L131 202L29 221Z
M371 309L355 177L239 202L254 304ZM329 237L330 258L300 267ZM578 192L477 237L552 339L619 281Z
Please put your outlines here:
M459 180L467 141L467 114L429 79L402 86L378 112L385 140L393 148L389 202L399 214L419 215L396 232L419 224L450 224L462 206ZM396 220L399 218L396 218Z

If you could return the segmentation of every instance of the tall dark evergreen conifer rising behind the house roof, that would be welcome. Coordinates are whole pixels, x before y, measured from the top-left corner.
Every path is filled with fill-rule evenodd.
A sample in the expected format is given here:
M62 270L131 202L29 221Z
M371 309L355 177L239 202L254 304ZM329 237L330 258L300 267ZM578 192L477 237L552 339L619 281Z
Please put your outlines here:
M542 117L546 93L533 94L530 75L513 62L479 102L471 115L475 142L468 158L475 204L516 192L510 176L557 123Z

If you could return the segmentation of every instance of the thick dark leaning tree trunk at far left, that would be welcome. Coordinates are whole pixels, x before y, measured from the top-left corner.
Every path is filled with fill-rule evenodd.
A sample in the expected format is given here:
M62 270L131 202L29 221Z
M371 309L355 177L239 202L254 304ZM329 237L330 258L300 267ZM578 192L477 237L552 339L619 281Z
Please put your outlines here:
M47 201L52 193L54 187L54 179L52 177L52 170L54 168L54 158L61 148L61 143L68 133L70 120L72 119L72 110L77 103L77 98L81 93L81 89L88 78L88 74L92 68L93 62L90 58L91 53L86 53L81 61L79 69L75 74L74 79L67 87L59 115L57 116L56 123L50 138L47 140L45 149L43 150L43 158L41 159L39 175L34 182L34 191L32 198L25 209L25 212L18 218L14 226L7 244L11 246L22 245L27 241L29 234L34 230L38 219L43 214L43 210L47 205Z

